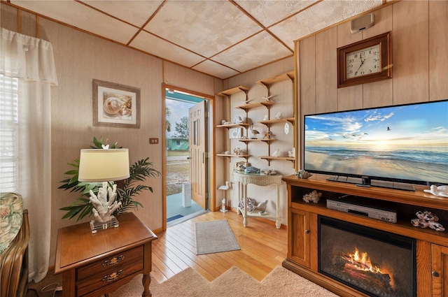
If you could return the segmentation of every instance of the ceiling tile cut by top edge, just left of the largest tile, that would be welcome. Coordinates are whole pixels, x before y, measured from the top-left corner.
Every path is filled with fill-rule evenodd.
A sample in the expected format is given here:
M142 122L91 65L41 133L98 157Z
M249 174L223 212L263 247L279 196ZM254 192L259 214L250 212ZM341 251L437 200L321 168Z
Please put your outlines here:
M104 13L117 17L130 24L134 24L137 27L143 26L163 2L162 0L82 1L89 6L102 10Z

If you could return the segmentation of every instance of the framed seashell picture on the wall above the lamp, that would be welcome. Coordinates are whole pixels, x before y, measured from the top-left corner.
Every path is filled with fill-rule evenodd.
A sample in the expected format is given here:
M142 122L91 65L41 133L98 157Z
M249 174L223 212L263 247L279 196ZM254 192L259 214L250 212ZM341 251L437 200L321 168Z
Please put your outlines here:
M93 80L93 126L140 128L140 89Z

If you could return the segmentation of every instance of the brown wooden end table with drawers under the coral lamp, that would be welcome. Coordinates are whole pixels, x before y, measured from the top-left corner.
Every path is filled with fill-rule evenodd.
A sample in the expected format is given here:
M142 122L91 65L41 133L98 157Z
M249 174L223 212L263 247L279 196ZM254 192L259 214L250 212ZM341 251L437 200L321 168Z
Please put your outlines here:
M118 228L94 234L88 223L58 230L55 274L62 273L62 296L109 294L140 273L141 296L151 296L151 245L157 236L131 212L117 219Z

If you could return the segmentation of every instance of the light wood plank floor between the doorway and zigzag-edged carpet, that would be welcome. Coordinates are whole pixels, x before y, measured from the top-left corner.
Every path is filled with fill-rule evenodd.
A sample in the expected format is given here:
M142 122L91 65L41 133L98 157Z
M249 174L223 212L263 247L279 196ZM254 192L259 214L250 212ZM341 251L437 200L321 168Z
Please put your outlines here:
M241 250L197 256L195 223L227 219ZM158 233L153 241L153 270L158 282L191 267L210 282L232 266L243 270L256 280L262 280L286 258L288 238L286 229L276 229L274 222L243 218L237 212L208 212L187 222L171 226Z

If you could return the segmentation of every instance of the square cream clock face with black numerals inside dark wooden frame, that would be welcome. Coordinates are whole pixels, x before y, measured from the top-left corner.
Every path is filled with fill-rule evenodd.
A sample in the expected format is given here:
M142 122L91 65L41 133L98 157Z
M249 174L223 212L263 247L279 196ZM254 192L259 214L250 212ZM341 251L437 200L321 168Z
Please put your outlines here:
M346 78L381 72L381 52L379 44L369 48L346 53Z

